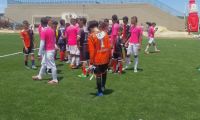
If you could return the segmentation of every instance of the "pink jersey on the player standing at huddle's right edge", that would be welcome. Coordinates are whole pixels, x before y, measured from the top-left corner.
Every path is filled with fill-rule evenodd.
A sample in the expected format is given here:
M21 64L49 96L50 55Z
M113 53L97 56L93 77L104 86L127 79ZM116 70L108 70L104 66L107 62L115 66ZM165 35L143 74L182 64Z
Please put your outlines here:
M139 38L142 34L141 28L138 26L131 26L130 33L131 33L131 37L129 38L129 43L138 44Z

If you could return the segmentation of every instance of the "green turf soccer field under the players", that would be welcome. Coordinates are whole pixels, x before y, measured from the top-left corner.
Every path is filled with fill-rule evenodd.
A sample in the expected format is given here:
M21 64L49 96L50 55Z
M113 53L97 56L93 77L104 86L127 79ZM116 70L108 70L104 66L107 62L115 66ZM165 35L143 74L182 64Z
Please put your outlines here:
M200 120L200 41L157 39L161 53L140 53L138 73L108 74L96 97L95 80L57 62L60 83L33 81L23 55L0 58L0 120ZM21 52L18 34L0 34L0 56ZM38 61L37 65L40 63Z

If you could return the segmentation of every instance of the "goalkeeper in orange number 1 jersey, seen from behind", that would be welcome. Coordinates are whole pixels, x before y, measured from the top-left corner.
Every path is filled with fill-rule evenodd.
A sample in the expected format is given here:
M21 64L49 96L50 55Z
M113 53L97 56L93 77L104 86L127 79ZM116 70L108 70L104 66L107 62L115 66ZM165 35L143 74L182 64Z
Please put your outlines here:
M111 47L109 36L104 31L106 29L106 23L101 23L98 28L97 21L90 21L88 30L90 35L88 36L88 46L90 54L90 68L95 68L94 73L96 75L97 82L97 96L103 96L105 90L107 69L111 57Z

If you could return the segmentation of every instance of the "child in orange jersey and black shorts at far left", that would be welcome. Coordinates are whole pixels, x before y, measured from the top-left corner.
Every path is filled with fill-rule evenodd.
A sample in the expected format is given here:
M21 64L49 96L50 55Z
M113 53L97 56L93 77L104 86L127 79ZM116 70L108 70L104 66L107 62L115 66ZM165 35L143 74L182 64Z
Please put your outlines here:
M31 68L36 69L35 66L35 58L34 58L34 33L33 30L29 29L28 21L23 21L23 29L20 32L20 36L23 40L23 53L24 53L24 64L26 68L30 68L28 66L28 57L31 55Z

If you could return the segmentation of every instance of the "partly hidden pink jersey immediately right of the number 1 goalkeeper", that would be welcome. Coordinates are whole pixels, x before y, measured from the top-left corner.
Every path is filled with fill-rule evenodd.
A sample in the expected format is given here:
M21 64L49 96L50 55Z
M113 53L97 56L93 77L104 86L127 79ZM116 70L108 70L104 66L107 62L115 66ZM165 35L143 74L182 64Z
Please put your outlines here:
M112 33L111 33L111 43L113 44L113 42L116 41L118 33L119 33L119 24L115 23L112 25Z

